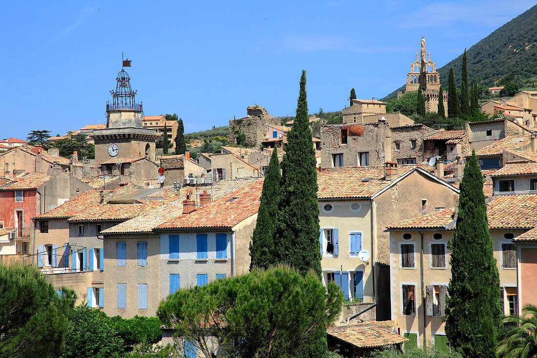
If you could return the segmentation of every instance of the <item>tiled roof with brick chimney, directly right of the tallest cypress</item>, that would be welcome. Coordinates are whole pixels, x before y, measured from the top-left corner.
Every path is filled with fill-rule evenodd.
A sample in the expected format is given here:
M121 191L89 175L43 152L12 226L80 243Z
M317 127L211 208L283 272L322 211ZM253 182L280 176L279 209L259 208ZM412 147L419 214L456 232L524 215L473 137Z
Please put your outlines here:
M415 165L397 166L397 177L414 168ZM393 182L384 177L383 166L326 168L317 176L317 198L370 198Z

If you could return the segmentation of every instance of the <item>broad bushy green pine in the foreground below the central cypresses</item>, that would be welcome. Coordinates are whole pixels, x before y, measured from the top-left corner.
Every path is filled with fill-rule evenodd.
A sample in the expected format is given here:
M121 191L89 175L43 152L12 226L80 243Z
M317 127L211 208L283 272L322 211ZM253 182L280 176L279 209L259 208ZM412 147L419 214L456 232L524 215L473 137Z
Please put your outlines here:
M175 329L179 348L184 338L205 356L293 357L325 337L342 302L337 285L325 288L314 271L280 266L178 290L157 317Z

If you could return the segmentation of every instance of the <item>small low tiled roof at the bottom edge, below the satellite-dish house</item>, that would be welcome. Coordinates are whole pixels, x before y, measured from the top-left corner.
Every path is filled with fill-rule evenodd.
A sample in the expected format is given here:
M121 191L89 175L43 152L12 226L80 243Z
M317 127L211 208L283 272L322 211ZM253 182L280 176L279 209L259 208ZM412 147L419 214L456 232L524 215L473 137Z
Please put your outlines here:
M326 334L357 348L391 346L408 341L408 338L391 332L390 328L379 325L379 322L326 327Z

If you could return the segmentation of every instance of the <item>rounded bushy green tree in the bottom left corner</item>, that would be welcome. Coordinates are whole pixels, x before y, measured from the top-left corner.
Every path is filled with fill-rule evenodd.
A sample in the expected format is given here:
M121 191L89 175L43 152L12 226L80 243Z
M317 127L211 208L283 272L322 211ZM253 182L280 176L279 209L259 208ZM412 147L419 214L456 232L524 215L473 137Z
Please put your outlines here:
M0 356L57 356L72 304L37 267L0 264Z

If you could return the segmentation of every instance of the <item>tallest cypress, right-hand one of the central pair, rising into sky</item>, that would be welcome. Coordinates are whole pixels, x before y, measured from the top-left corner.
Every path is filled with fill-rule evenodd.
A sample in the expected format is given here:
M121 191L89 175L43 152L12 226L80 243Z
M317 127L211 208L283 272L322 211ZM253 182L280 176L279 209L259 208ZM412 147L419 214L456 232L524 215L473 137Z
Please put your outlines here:
M311 140L303 70L296 119L287 133L281 162L282 197L274 242L278 262L289 263L303 274L313 270L321 277L317 171Z

